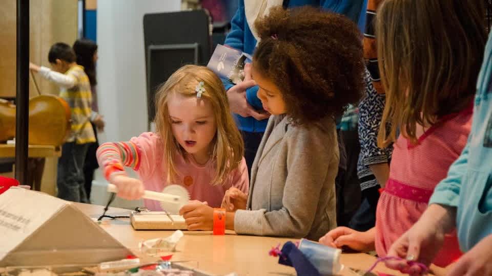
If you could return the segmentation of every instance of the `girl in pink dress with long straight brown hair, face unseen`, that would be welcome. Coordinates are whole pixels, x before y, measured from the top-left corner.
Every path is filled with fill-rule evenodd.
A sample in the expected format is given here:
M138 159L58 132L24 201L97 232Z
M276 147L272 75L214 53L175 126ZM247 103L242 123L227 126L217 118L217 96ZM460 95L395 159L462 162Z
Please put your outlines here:
M449 0L386 0L377 19L386 105L378 144L394 142L389 179L367 232L338 227L320 242L356 250L389 247L427 208L434 188L463 150L485 45L479 5ZM466 31L465 31L466 30ZM436 42L439 41L439 42ZM474 49L470 49L473 45ZM397 132L400 134L397 135ZM437 258L445 267L461 256L456 232Z

